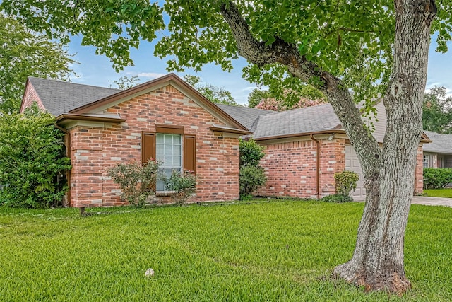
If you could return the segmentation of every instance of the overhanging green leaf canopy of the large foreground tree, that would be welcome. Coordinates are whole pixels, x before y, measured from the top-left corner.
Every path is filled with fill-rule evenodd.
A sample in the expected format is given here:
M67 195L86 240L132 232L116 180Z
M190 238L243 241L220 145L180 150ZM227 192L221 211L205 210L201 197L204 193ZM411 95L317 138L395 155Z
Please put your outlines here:
M262 47L284 41L296 45L299 54L317 68L343 79L357 100L383 93L393 63L396 28L393 1L236 1L252 37ZM438 50L446 51L451 40L452 4L441 1L432 26L438 33ZM232 69L239 52L230 26L220 13L227 0L215 1L46 1L5 0L3 10L18 16L28 28L50 38L69 42L71 35L83 35L83 45L94 45L114 66L132 64L129 48L141 40L152 41L165 30L155 55L167 57L168 69L200 70L209 62ZM164 20L169 16L169 21ZM290 16L290 18L287 18ZM166 34L166 33L169 34ZM287 76L287 66L262 58L244 69L246 79L285 88L301 84ZM303 79L316 83L318 76ZM365 97L364 97L365 96Z

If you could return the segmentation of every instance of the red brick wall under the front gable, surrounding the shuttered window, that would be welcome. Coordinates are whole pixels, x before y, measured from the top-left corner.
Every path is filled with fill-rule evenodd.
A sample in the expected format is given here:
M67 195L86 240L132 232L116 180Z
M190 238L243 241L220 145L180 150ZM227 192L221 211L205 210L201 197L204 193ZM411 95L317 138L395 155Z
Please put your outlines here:
M191 201L239 198L238 140L216 137L209 127L222 122L175 88L161 88L105 112L119 113L126 122L70 129L72 207L123 204L106 169L120 162L141 162L141 133L155 132L155 124L184 126L185 134L196 135L198 184Z

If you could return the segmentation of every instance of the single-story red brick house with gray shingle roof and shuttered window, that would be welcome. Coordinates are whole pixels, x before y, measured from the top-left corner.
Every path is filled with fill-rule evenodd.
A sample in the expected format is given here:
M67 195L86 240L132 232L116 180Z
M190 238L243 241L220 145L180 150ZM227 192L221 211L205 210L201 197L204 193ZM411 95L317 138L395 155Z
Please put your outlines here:
M365 197L364 178L331 105L274 112L214 104L174 74L120 91L30 77L21 110L37 102L57 117L71 157L71 207L124 204L107 168L164 158L164 168L194 170L196 201L239 198L239 137L265 147L268 182L258 195L321 198L335 193L334 173L360 175L353 197ZM374 136L383 141L386 115L376 105ZM422 144L415 193L422 193ZM157 197L165 195L157 184Z

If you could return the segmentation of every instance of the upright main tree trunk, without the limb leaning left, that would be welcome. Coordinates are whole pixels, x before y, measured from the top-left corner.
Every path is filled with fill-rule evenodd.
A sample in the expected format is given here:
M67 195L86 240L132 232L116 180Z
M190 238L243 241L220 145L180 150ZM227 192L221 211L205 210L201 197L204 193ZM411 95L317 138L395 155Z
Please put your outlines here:
M402 294L411 286L403 266L403 241L415 187L430 23L436 6L429 0L396 0L395 4L394 69L383 97L388 122L381 168L367 178L352 260L336 267L333 275L368 291Z

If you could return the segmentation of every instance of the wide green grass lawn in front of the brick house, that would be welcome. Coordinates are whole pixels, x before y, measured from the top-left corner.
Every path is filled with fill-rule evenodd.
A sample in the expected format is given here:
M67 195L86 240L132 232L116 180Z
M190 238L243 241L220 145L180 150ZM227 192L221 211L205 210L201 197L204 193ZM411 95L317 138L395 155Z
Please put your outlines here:
M0 301L451 301L452 209L412 205L405 296L330 274L362 203L0 209ZM145 270L155 276L145 277Z

